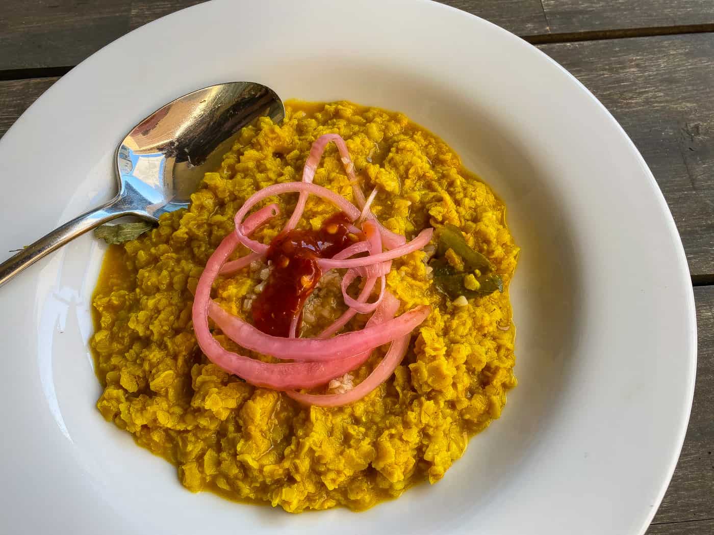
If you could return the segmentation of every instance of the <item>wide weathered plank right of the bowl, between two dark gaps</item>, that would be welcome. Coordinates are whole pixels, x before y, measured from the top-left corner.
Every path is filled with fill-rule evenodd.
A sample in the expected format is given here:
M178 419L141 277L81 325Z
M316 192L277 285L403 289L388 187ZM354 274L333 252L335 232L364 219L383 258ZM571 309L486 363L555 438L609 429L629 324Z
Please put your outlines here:
M713 274L714 34L539 48L620 121L668 201L690 271Z

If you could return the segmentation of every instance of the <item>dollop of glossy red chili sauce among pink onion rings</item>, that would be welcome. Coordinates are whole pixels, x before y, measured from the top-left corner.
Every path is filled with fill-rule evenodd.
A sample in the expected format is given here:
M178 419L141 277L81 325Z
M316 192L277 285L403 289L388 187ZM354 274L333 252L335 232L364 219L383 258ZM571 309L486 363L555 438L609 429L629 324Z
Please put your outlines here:
M351 221L339 212L325 220L320 230L290 230L271 242L268 260L273 269L263 291L253 301L253 324L268 335L287 337L300 317L305 301L322 271L318 258L331 258L356 240L348 230Z

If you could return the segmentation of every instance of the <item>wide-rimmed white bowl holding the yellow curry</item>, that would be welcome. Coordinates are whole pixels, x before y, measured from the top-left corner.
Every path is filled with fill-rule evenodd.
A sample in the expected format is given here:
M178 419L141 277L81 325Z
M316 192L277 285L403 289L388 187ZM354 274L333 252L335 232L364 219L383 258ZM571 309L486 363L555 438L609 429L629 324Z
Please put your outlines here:
M87 340L103 248L85 236L0 290L0 532L643 533L693 393L680 238L610 113L486 21L416 0L226 0L144 26L64 76L2 139L0 250L108 200L114 148L147 113L232 80L403 111L493 186L523 248L520 385L443 481L361 514L190 494L94 407Z

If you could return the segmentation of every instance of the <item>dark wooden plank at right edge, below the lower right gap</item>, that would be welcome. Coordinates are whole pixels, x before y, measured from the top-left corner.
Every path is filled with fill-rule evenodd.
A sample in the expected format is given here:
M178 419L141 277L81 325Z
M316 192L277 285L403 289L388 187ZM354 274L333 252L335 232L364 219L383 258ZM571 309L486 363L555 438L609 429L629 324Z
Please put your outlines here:
M699 354L692 414L677 468L648 535L714 533L703 530L713 526L707 522L670 524L714 519L714 286L695 287L694 297Z

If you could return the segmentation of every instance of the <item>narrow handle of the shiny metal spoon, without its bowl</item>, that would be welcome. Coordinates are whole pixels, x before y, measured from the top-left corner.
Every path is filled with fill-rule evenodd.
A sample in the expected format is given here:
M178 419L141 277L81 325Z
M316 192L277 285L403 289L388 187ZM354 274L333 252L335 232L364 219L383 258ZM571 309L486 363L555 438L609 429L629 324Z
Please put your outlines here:
M61 227L56 228L32 245L28 245L19 253L5 260L4 263L0 264L0 286L40 258L60 248L70 240L74 240L77 236L86 233L87 230L99 227L99 225L122 215L134 214L133 211L122 205L123 203L119 202L120 200L121 198L115 198L95 210L90 210L64 223Z

